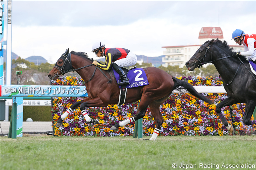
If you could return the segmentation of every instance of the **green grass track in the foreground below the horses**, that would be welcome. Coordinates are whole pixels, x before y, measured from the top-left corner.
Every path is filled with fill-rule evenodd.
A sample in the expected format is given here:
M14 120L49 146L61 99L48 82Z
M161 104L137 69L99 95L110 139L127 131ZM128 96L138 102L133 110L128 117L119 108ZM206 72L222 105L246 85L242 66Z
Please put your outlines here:
M143 137L150 138L150 137ZM0 169L186 169L182 164L256 164L256 136L0 137ZM176 163L177 168L172 164ZM239 168L235 168L239 169ZM254 168L241 168L254 169Z

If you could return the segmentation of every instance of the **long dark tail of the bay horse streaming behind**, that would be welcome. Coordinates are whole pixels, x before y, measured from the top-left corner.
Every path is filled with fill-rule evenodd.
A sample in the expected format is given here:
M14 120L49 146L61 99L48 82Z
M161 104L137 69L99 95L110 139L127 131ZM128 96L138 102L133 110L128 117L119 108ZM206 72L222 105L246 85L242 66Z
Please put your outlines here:
M213 101L208 99L207 97L203 96L202 94L198 93L195 88L189 84L188 82L185 82L183 80L177 79L175 77L172 76L172 79L174 81L174 86L173 86L173 90L178 90L180 92L182 92L182 89L187 90L191 95L201 99L202 101L205 101L209 104L213 104ZM184 92L184 91L183 91ZM183 93L182 92L182 93Z

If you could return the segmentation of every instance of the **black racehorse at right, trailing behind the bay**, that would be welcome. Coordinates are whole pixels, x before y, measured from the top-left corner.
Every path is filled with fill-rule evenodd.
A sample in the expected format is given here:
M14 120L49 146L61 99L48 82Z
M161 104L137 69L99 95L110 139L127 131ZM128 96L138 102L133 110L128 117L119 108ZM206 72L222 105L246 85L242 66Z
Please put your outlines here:
M256 75L249 72L250 66L246 57L234 57L232 50L226 41L212 39L206 41L186 63L190 71L207 63L216 67L228 95L228 98L217 104L216 112L227 128L230 125L222 115L221 108L237 103L246 103L244 124L256 124L256 120L251 121L256 106Z

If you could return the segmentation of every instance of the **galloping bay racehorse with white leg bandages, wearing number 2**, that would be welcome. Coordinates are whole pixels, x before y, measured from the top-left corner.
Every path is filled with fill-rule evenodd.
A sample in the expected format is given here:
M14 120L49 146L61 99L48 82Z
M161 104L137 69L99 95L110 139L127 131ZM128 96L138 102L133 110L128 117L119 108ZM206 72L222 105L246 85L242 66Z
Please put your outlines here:
M76 72L85 81L88 97L74 103L70 108L59 118L57 126L62 124L62 121L75 108L80 106L82 114L87 122L97 124L97 120L92 120L87 114L87 107L106 107L109 104L118 104L120 88L117 85L115 77L106 70L101 70L99 67L91 64L93 59L87 56L84 52L66 50L64 54L56 62L54 68L48 74L51 80L56 80L58 76L76 70ZM189 83L172 77L167 72L155 68L144 68L148 85L139 86L127 89L125 103L132 103L140 100L137 113L134 117L126 119L112 126L111 130L118 130L126 124L136 121L145 116L147 107L150 107L152 116L155 119L156 129L150 140L155 140L159 129L163 123L163 117L160 113L159 106L166 101L174 89L186 89L191 95L212 104L212 101L203 95L199 94Z

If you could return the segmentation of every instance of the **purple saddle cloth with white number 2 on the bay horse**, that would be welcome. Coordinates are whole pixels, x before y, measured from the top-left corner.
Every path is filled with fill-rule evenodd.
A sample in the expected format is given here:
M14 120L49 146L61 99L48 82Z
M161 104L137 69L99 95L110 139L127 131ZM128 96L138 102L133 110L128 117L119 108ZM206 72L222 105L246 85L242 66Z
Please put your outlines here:
M113 69L117 83L120 82L120 75ZM142 68L129 70L127 73L129 84L126 88L139 87L148 85L148 80L145 71ZM121 88L121 86L119 86Z

